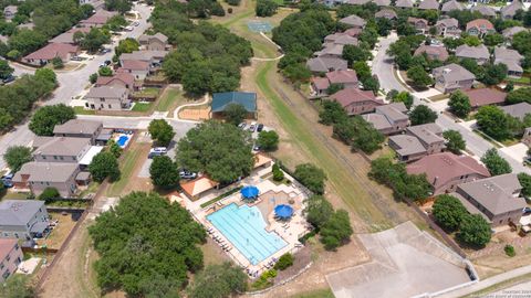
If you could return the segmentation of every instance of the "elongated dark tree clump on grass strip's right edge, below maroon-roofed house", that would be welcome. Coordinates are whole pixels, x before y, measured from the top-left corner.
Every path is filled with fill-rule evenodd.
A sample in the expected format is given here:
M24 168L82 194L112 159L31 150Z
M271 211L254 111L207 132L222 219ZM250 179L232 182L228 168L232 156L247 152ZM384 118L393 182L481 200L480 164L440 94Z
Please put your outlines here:
M333 125L333 137L340 139L354 150L373 153L382 147L384 135L376 130L361 116L348 117L337 102L323 102L320 113L320 121L324 125Z

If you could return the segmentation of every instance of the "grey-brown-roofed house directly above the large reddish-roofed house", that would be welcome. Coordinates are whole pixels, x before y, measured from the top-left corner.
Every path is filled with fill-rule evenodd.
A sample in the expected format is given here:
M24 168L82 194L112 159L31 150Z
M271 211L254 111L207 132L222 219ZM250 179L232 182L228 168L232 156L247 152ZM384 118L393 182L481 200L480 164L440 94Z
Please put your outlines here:
M442 129L436 124L416 125L406 128L405 135L389 137L389 147L400 161L418 160L427 155L439 153L445 149Z

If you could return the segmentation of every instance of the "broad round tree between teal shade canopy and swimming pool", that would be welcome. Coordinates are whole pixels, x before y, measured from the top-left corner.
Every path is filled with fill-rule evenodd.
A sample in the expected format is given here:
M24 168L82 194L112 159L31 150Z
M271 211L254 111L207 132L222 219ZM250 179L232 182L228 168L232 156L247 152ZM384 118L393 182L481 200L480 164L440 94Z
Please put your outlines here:
M254 164L249 132L215 120L188 130L177 143L177 152L180 167L208 173L221 183L248 175Z

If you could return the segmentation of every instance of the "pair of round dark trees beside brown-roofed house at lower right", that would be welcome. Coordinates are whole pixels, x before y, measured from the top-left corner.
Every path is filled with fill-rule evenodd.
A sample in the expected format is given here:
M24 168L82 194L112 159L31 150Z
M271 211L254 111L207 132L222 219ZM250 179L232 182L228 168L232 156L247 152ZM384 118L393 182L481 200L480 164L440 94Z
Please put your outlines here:
M446 231L458 231L457 238L466 245L482 247L490 241L490 224L479 214L469 214L459 199L452 195L437 196L433 214Z

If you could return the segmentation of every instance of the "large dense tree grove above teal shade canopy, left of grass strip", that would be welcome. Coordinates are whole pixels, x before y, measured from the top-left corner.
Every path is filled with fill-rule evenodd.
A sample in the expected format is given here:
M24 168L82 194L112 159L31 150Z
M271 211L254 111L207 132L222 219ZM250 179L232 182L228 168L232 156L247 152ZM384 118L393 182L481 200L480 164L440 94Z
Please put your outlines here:
M208 22L194 24L187 8L211 0L194 0L187 6L157 2L150 21L155 31L178 45L164 60L163 71L171 82L196 96L212 92L235 91L240 85L240 67L252 56L251 43L221 25Z

